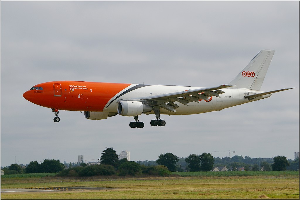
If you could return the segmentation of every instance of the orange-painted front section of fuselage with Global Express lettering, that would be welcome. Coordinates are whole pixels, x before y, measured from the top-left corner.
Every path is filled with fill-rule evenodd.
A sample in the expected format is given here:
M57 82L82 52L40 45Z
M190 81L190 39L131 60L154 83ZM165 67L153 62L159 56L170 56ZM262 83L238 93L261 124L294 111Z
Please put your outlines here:
M101 112L109 100L131 84L84 81L54 81L35 85L23 97L47 108Z

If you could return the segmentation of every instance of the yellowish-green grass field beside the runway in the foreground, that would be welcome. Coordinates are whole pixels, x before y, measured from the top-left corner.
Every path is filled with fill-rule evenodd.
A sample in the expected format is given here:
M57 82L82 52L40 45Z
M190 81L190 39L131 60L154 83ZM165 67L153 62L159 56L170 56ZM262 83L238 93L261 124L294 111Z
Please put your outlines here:
M299 199L299 172L180 172L176 177L4 177L3 188L111 187L2 193L2 199ZM209 176L210 175L210 176ZM42 190L42 189L41 189Z

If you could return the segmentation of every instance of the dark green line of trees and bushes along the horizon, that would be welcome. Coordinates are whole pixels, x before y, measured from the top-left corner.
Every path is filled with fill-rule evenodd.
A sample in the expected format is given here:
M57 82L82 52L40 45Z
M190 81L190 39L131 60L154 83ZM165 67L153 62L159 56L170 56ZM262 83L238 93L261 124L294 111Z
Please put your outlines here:
M98 176L98 175L160 175L168 176L176 171L211 171L214 166L231 166L233 171L237 167L244 166L246 171L285 171L297 170L299 158L296 160L286 160L284 156L275 156L273 159L265 160L261 158L250 158L245 156L233 156L225 158L215 158L209 153L201 155L191 154L186 158L179 158L172 153L160 154L156 161L127 161L126 158L119 160L119 156L113 148L106 148L98 159L98 165L87 166L80 163L80 166L66 167L59 160L46 159L41 163L32 161L25 169L18 164L12 164L4 168L4 174L18 173L51 173L60 172L59 176ZM289 169L292 166L292 169Z

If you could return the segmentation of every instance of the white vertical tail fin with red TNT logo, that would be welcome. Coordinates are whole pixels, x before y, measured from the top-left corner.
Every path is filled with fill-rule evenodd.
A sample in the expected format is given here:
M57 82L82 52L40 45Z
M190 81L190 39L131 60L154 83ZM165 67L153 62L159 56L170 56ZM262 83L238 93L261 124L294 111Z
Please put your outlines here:
M237 88L260 90L274 50L261 50L229 84Z

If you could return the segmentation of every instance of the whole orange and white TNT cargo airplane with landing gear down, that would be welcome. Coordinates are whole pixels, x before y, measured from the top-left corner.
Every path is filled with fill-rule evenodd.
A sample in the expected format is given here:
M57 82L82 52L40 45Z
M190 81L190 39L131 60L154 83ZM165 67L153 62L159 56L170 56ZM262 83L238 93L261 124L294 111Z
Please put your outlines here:
M176 85L53 81L33 86L23 97L39 106L51 108L54 122L59 110L80 111L91 120L133 116L131 128L143 128L142 114L155 114L151 126L165 126L160 115L192 115L249 103L270 97L274 91L260 91L274 50L261 50L228 84L201 88Z

